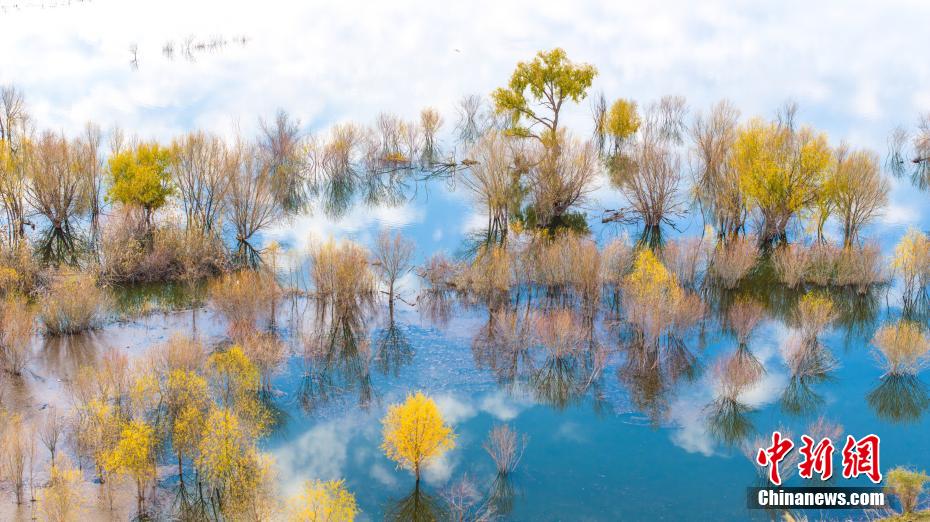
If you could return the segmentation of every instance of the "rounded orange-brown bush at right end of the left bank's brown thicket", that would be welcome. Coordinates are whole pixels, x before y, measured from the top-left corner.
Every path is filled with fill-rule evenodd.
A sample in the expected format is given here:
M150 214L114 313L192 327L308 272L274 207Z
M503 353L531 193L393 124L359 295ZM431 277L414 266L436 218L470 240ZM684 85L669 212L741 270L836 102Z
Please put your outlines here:
M210 285L210 302L226 318L230 336L241 339L270 318L271 303L279 291L269 274L240 270L224 274Z

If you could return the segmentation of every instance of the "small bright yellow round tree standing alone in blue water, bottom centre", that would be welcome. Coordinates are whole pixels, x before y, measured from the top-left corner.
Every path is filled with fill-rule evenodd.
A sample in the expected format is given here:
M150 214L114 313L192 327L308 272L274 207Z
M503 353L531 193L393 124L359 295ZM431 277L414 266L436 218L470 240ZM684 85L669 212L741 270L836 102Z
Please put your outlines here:
M381 449L399 467L413 471L417 483L424 465L455 447L452 428L443 421L436 403L420 392L391 405L381 423Z

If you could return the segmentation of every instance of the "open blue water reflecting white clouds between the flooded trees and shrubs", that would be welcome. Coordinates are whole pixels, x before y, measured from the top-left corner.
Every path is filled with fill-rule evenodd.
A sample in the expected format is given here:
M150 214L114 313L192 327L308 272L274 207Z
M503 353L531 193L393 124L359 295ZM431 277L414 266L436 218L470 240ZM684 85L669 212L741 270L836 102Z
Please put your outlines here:
M418 262L440 250L455 255L466 248L476 220L463 217L469 205L461 190L446 183L431 189L396 207L353 206L339 218L298 219L265 240L297 252L314 232L370 244L378 229L398 228L417 241ZM621 232L600 227L594 216L589 221L602 241ZM311 230L311 222L319 228ZM903 231L885 227L879 237L893 245ZM300 287L304 265L284 264L282 283ZM883 469L930 468L924 380L889 380L869 344L877 326L899 314L894 286L865 296L836 295L840 317L820 338L835 364L823 374L798 375L782 347L792 335L790 312L801 292L779 289L764 274L734 291L707 293L707 318L676 347L675 361L655 365L625 348L627 339L606 303L589 339L596 348L586 354L559 358L527 347L502 360L489 333L496 319L485 307L453 302L447 315L431 316L417 306L416 276L402 283L406 302L398 302L393 321L379 303L338 335L318 319L312 300L287 297L279 303L274 329L291 355L267 394L278 421L262 447L274 456L285 491L312 478L344 478L361 517L380 520L403 518L410 510L440 513L443 492L467 477L481 502L513 520L764 519L769 514L745 507L745 488L761 480L748 452L773 430L800 436L824 426L842 437L878 434ZM176 332L208 346L226 342L226 324L206 304L203 285L111 293L115 312L103 328L36 339L31 371L22 385L5 391L5 401L32 409L67 406L65 384L109 348L144 357ZM737 294L755 296L769 308L745 346L723 331L715 312ZM519 320L546 307L545 297L536 296L517 300L513 310ZM338 350L325 361L308 362L304 347L321 337ZM713 368L738 350L758 360L764 375L727 401ZM602 367L592 362L593 353L605 358ZM427 468L418 489L380 448L387 406L415 390L436 400L457 435L455 449ZM506 479L497 477L482 447L499 423L528 436L516 472ZM169 475L162 485L170 489L176 479ZM787 484L796 483L803 481L795 474Z

